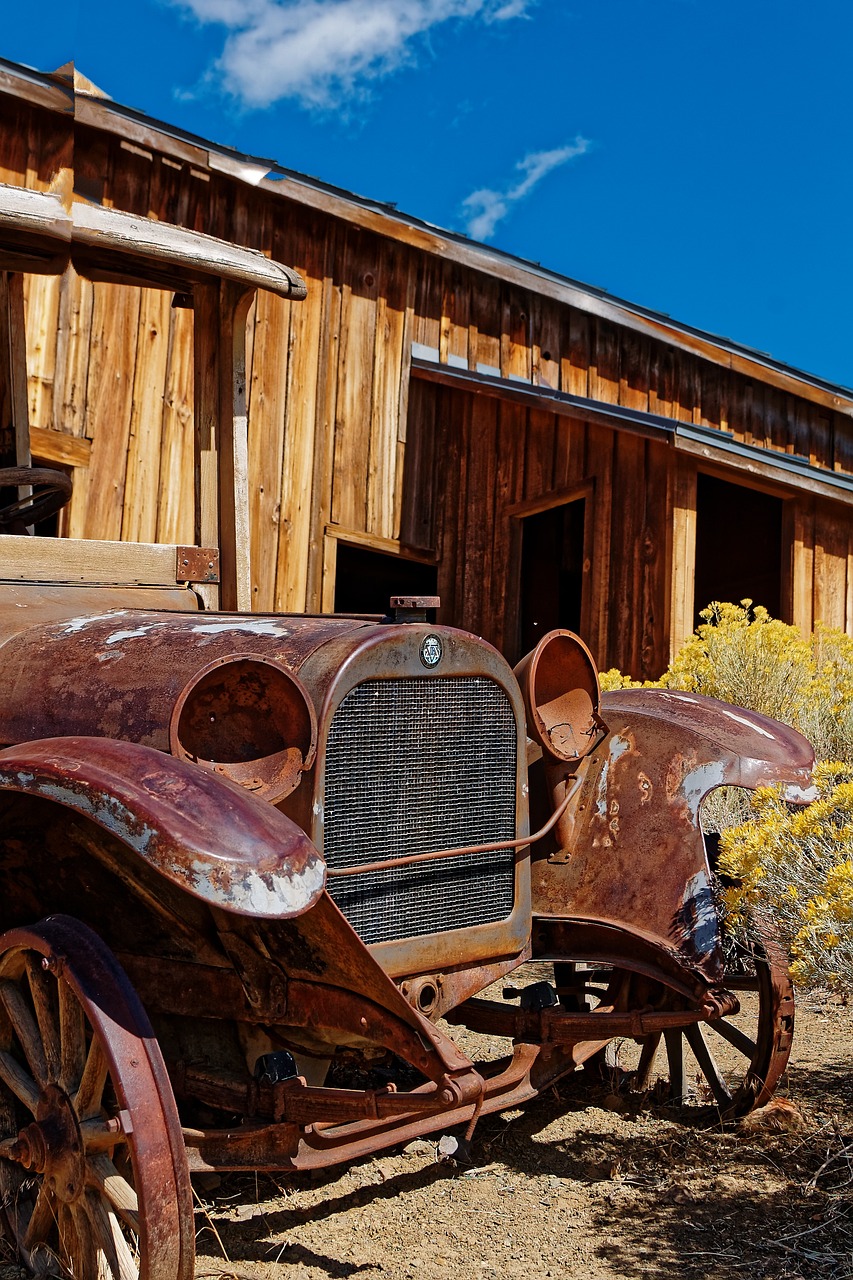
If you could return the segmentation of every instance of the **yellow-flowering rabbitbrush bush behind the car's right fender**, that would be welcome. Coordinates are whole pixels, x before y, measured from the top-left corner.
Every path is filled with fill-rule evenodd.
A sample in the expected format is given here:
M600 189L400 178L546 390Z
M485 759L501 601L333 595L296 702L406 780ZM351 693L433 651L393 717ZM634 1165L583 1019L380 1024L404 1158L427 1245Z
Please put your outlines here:
M793 724L815 748L820 799L786 805L772 788L724 788L703 809L721 832L731 924L770 913L804 986L853 995L853 639L818 623L808 640L752 602L715 603L660 680ZM603 689L638 687L617 671Z

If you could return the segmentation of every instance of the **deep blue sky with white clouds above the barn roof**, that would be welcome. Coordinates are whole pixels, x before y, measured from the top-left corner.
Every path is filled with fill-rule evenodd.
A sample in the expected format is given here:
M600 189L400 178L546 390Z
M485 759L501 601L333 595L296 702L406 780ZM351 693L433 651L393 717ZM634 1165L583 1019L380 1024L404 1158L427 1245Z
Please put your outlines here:
M850 0L40 0L0 55L853 385Z

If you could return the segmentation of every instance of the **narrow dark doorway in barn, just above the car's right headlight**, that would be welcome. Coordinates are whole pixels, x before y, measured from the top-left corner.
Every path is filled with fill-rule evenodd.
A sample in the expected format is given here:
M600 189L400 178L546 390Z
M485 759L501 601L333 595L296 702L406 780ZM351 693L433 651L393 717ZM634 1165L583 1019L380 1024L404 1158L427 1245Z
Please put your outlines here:
M583 498L521 521L521 653L557 627L580 631L584 584Z

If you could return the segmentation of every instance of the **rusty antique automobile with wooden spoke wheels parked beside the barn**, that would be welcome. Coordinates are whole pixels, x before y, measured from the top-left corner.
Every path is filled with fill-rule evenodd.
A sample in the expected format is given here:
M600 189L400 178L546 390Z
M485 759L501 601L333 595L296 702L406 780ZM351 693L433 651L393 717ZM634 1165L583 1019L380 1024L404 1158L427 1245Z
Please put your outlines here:
M70 486L31 465L19 285L69 265L193 307L195 547L29 531ZM245 317L255 289L298 300L300 276L3 188L0 285L18 415L0 460L0 1184L20 1262L188 1280L192 1172L315 1170L421 1134L461 1149L615 1039L635 1046L625 1088L678 1102L698 1080L724 1117L766 1102L786 964L761 929L729 963L699 808L724 785L808 800L808 744L699 696L602 696L567 631L514 672L428 599L252 614ZM503 1055L471 1061L456 1027Z

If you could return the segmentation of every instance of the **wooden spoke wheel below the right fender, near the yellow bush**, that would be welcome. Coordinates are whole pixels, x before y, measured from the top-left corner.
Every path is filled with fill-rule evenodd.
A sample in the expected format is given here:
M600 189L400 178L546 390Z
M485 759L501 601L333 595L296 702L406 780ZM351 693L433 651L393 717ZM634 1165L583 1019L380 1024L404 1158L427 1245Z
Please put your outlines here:
M722 986L738 996L740 1011L646 1037L634 1070L622 1078L631 1091L656 1091L675 1105L712 1102L726 1119L770 1101L788 1065L794 1029L788 959L772 933L756 924L748 941L730 946L729 952L731 965ZM569 1007L686 1009L662 984L624 969L571 966L569 980L566 973L557 974L557 987L564 986Z

